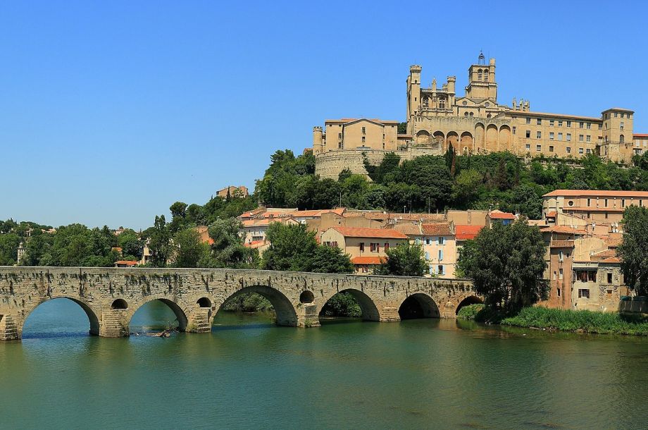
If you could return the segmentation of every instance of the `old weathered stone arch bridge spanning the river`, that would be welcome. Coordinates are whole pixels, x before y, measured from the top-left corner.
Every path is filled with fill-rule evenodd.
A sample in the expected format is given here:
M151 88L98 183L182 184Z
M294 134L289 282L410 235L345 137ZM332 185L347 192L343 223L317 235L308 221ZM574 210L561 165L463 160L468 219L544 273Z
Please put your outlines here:
M357 276L236 269L117 269L0 267L0 340L20 339L23 324L43 302L67 298L88 316L90 333L129 335L139 307L160 300L180 331L209 332L231 297L258 293L272 303L281 326L319 326L319 314L335 294L348 291L368 321L400 321L399 312L454 318L459 307L480 298L462 279Z

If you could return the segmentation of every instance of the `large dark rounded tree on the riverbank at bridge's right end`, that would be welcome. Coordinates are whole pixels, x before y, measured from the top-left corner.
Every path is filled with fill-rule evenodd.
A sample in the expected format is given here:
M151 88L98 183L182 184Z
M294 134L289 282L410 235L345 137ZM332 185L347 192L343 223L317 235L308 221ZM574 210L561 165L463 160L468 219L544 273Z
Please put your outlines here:
M547 299L545 252L540 230L521 218L509 226L482 228L474 249L459 255L458 266L486 305L511 312Z

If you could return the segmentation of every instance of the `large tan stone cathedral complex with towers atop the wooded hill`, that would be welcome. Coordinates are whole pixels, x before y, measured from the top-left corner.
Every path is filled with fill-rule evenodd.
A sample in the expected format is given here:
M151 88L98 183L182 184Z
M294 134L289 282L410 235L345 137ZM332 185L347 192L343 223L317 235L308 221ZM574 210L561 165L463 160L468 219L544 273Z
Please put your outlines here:
M347 164L351 171L362 173L359 152L371 161L379 161L387 151L410 159L417 149L440 154L449 145L465 154L510 151L518 156L580 158L592 153L625 164L640 152L633 148L633 139L642 135L633 135L630 109L615 107L600 116L580 116L532 111L524 99L501 104L495 59L486 62L481 53L468 68L463 95L456 92L456 76L448 76L442 85L433 79L424 87L421 72L421 66L411 66L406 80L406 133L397 133L396 121L367 118L327 120L325 130L313 129L320 176L335 176L344 159L351 160Z

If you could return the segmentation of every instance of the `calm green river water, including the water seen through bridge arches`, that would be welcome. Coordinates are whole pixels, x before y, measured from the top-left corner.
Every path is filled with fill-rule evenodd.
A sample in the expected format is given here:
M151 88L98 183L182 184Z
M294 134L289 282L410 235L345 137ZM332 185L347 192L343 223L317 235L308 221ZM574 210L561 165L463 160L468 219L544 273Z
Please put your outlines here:
M173 320L142 308L132 331ZM0 343L0 427L645 428L648 339L423 319L297 329L221 312L211 334L87 335L68 300Z

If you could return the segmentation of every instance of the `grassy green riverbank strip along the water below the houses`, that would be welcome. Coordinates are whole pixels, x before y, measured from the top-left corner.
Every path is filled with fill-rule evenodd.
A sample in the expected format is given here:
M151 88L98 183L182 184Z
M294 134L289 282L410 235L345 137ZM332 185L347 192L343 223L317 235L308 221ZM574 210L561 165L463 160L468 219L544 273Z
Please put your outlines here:
M545 328L576 333L648 336L648 319L616 312L525 307L518 314L501 315L490 311L484 305L470 305L461 308L457 317L503 326Z

